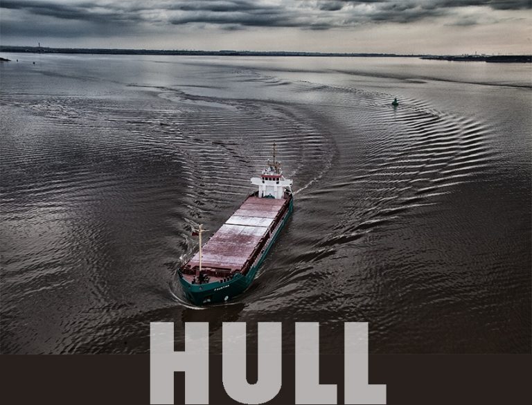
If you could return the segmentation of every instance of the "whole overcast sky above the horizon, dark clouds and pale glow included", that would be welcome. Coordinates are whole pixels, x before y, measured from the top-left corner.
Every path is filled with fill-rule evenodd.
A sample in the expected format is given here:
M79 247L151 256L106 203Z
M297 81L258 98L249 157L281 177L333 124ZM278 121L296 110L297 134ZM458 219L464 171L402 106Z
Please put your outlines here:
M532 0L0 0L6 45L531 53Z

